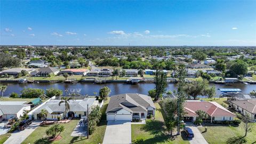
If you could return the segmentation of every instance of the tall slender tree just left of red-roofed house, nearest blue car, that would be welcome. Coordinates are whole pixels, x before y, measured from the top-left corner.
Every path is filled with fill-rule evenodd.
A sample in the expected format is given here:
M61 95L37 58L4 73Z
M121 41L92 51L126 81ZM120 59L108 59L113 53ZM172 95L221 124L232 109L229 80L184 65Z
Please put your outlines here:
M187 70L185 68L185 65L179 65L178 69L177 69L177 76L178 76L178 92L177 92L177 135L180 135L180 123L181 120L183 118L183 116L185 115L185 111L183 108L183 104L185 101L185 91L184 91L184 87L185 87L185 78L187 75Z

